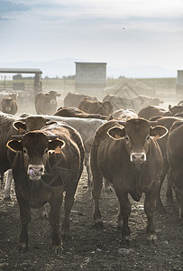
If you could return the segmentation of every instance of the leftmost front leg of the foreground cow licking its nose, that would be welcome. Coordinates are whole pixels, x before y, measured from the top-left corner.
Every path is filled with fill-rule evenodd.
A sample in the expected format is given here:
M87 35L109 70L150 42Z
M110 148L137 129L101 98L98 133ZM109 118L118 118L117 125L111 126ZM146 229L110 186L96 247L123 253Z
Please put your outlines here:
M31 220L31 208L29 202L23 199L21 192L17 192L16 190L15 192L20 208L20 217L22 224L19 252L26 252L28 248L28 225Z

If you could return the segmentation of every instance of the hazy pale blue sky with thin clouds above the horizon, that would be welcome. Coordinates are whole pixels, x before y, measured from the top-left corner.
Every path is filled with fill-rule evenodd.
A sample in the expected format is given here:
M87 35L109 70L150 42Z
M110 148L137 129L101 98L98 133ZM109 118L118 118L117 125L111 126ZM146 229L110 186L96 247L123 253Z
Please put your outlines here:
M183 0L0 0L0 51L183 70Z

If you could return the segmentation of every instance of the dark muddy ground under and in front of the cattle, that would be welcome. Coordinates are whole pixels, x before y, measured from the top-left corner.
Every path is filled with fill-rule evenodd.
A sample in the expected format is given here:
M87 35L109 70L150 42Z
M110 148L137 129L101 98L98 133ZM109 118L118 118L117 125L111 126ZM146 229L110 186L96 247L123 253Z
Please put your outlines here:
M4 201L0 191L0 270L183 270L183 226L178 221L176 202L166 206L167 214L155 213L157 244L147 245L146 216L143 201L133 203L130 217L132 241L121 243L116 228L118 203L114 191L102 192L101 211L104 228L94 229L93 202L87 192L87 173L78 185L76 201L70 217L72 238L64 242L63 251L55 255L51 249L48 220L39 220L35 213L29 228L29 249L18 252L20 233L19 208L13 201ZM165 184L162 200L166 205ZM61 210L61 218L63 210ZM125 249L120 249L125 248Z

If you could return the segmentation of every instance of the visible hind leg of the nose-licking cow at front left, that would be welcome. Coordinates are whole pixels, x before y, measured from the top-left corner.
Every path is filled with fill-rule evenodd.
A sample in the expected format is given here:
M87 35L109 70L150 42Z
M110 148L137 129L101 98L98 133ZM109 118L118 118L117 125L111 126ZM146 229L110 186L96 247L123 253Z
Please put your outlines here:
M74 196L75 196L76 190L77 190L77 187L72 190L70 189L66 191L66 194L65 194L65 202L64 202L65 217L64 217L62 227L61 227L61 236L64 239L70 238L69 217L70 217L70 211L74 204Z

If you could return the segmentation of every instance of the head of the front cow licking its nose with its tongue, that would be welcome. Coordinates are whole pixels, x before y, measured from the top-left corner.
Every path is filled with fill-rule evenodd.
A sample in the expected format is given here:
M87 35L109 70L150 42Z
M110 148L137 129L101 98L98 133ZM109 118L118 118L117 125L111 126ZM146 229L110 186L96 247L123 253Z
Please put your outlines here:
M41 179L45 172L45 165L49 157L49 151L59 152L65 146L65 142L57 136L45 135L41 131L28 132L25 135L15 135L16 139L7 143L8 148L14 152L22 153L22 163L26 173L32 181Z

